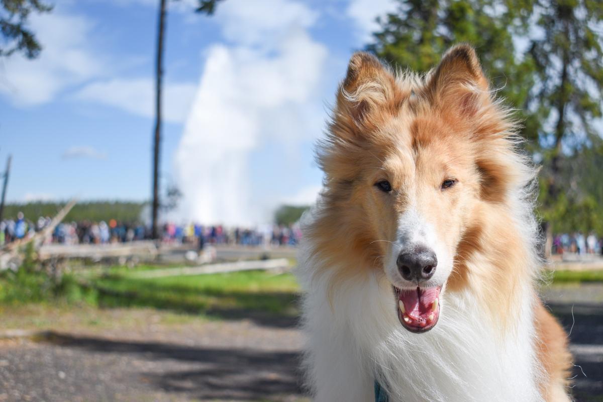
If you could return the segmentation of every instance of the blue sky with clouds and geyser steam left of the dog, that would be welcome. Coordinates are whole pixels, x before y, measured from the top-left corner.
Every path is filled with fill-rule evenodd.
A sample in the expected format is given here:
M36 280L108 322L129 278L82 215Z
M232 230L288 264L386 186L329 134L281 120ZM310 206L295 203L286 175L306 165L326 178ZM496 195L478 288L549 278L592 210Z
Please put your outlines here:
M311 204L314 143L352 52L393 0L225 0L207 17L169 2L160 180L172 219L268 221ZM8 201L151 195L158 0L55 0L30 28L40 57L0 60Z

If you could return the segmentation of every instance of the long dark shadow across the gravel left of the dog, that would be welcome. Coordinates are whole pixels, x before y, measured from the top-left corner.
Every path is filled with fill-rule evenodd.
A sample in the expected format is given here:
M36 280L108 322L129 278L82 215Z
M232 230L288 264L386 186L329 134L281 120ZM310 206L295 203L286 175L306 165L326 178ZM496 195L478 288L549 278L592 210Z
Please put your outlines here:
M303 394L298 380L298 353L112 341L62 333L48 334L47 341L66 348L157 363L161 372L140 372L142 382L195 400L280 401Z

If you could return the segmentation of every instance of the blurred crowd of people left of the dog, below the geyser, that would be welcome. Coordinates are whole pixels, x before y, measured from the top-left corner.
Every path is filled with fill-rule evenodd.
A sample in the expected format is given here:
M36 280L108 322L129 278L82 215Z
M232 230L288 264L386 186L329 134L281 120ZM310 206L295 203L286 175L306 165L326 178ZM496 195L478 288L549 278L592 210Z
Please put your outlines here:
M0 247L14 240L31 237L51 224L52 219L40 216L27 219L22 212L17 219L0 222ZM160 237L165 243L200 245L296 245L301 238L298 225L259 225L257 227L226 227L224 225L163 224ZM106 244L151 238L151 229L143 224L128 224L115 219L101 222L62 222L52 231L48 241L60 244Z

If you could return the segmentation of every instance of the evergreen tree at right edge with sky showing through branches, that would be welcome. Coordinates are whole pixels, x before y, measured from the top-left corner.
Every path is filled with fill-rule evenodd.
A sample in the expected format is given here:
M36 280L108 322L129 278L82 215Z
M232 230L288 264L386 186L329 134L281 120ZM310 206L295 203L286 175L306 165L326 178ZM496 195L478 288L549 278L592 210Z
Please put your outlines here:
M532 11L537 16L538 37L531 40L526 55L534 61L536 76L528 109L543 122L538 131L544 167L540 180L543 215L552 221L572 219L563 205L590 209L596 191L582 185L586 169L572 167L584 168L579 163L581 154L595 160L585 149L601 149L601 133L593 121L601 118L603 101L603 3L538 0ZM603 208L598 207L598 215L603 218Z

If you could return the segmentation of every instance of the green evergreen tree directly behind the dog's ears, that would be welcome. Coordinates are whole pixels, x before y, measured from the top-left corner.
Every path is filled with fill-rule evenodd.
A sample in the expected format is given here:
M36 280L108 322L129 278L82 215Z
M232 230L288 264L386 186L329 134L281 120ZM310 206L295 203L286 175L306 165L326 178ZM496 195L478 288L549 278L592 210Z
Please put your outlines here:
M395 13L379 20L368 50L397 68L427 72L450 46L470 43L479 54L491 87L517 108L523 135L535 139L537 122L523 113L534 86L531 58L516 57L513 31L526 30L522 0L398 0ZM511 3L511 1L509 1Z

